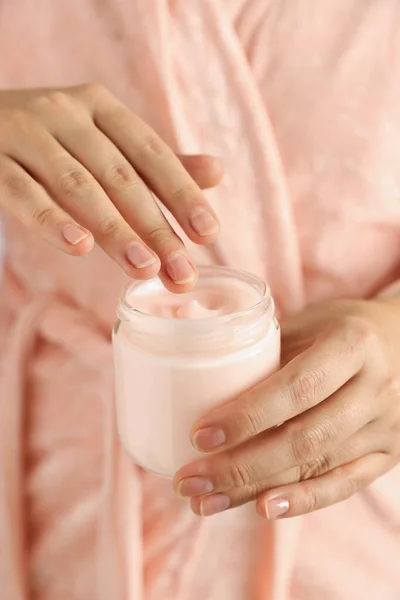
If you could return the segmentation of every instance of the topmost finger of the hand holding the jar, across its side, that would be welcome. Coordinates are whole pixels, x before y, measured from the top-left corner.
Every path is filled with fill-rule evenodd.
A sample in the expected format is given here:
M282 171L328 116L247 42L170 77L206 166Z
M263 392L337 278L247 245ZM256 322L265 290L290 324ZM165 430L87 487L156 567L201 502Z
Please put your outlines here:
M362 368L364 336L357 319L335 324L283 369L200 419L193 445L204 452L237 445L310 410Z

